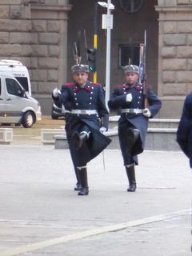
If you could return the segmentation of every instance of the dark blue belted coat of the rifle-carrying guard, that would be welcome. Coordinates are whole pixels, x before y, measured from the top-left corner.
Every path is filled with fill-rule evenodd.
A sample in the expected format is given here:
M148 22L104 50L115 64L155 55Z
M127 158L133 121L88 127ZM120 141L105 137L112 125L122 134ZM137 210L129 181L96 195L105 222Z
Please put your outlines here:
M126 95L132 94L132 101L126 102ZM146 97L148 101L148 109L151 113L151 118L158 113L162 106L162 102L158 99L158 96L154 94L151 86L147 85ZM144 95L143 86L136 83L134 86L129 86L128 84L123 84L120 86L115 86L114 93L112 94L110 101L108 102L110 109L118 110L121 109L138 109L144 108ZM132 150L133 160L135 164L138 164L137 154L141 154L144 150L146 132L148 128L148 118L146 118L142 113L140 114L130 114L122 113L121 118L118 120L118 130L121 130L123 126L132 126L139 130L140 136L134 145ZM124 158L124 164L126 165L126 143L125 138L121 134L118 134L119 142L122 150L122 157Z

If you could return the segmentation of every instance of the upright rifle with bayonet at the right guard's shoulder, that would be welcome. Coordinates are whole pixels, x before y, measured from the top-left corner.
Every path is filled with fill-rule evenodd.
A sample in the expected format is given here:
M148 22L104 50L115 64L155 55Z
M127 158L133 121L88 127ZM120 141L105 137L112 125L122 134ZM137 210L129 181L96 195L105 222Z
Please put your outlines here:
M144 32L144 44L140 44L140 77L139 80L142 83L143 95L144 95L144 109L147 108L147 85L146 85L146 30Z

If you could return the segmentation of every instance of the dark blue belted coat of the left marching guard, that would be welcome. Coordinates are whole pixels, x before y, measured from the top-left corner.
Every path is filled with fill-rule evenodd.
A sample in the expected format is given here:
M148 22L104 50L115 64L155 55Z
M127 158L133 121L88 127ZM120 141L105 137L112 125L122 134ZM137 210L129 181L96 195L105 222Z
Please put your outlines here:
M99 118L108 114L102 86L90 81L86 82L84 88L77 83L68 83L62 86L61 93L60 100L66 110L97 110L98 114L66 114L71 157L76 166L86 166L110 144L110 138L99 131ZM90 138L79 150L74 150L72 135L82 130L90 131Z

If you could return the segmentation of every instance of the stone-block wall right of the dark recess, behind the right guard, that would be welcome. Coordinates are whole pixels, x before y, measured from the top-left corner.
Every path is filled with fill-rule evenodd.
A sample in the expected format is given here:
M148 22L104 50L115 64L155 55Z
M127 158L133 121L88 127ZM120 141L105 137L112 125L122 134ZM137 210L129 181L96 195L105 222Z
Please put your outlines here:
M192 90L192 1L158 0L158 95L161 115L179 118Z

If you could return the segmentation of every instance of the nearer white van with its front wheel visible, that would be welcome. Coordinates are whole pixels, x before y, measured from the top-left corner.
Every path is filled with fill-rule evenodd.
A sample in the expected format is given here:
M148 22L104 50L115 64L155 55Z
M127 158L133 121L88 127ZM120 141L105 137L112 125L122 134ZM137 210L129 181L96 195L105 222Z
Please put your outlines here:
M10 72L0 70L0 123L30 128L41 117L38 101L26 94Z

